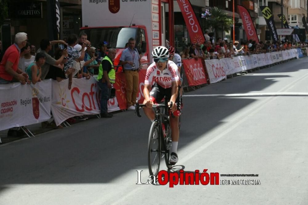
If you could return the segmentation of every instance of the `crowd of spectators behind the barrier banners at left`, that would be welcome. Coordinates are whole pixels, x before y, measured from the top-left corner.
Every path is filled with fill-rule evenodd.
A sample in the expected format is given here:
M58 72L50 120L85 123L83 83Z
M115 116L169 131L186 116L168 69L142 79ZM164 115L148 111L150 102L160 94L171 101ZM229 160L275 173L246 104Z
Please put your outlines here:
M71 89L73 77L90 79L94 74L99 73L99 66L106 56L107 45L106 41L100 42L100 50L98 50L91 46L91 42L87 40L87 34L82 33L79 37L76 34L71 34L66 41L42 39L40 47L36 49L28 42L26 33L17 33L14 44L5 52L2 51L2 42L0 41L0 55L2 56L0 59L0 84L10 82L35 84L50 78L60 82L68 78L67 87ZM51 50L54 51L52 55ZM85 116L76 118L87 119ZM75 119L68 121L72 123Z

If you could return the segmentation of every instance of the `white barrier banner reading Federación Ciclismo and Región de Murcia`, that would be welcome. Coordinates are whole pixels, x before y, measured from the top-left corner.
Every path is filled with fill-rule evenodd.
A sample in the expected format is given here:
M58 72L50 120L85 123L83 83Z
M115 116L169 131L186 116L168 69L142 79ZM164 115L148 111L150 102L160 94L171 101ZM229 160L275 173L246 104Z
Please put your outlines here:
M0 130L50 119L51 80L0 85Z

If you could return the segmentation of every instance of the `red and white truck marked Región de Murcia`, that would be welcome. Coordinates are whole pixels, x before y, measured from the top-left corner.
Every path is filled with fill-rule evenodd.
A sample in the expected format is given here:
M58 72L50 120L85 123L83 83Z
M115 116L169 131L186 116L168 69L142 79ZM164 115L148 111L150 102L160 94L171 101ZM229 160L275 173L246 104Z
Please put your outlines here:
M107 41L108 48L117 49L117 55L129 38L135 38L136 48L143 54L141 62L149 63L153 48L165 42L165 2L83 0L82 25L80 30L87 34L93 46L98 48L100 41Z

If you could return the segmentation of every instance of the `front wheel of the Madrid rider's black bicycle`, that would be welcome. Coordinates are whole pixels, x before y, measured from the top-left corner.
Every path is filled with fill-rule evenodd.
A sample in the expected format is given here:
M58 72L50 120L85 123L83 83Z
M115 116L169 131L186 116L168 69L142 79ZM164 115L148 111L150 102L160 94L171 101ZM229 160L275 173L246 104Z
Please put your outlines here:
M161 137L157 122L153 122L150 129L148 141L148 167L150 175L157 176L159 172L161 156Z

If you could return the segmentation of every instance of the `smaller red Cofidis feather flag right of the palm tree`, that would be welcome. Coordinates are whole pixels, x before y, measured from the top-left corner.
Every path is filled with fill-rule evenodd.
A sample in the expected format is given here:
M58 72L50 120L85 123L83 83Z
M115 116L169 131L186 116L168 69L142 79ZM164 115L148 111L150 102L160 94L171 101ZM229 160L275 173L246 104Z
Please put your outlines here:
M254 24L253 24L253 21L251 19L249 12L244 6L237 5L237 8L239 10L239 14L241 15L241 19L244 24L247 40L252 39L253 41L256 41L256 43L259 43L257 31L256 31L256 28L254 27Z

